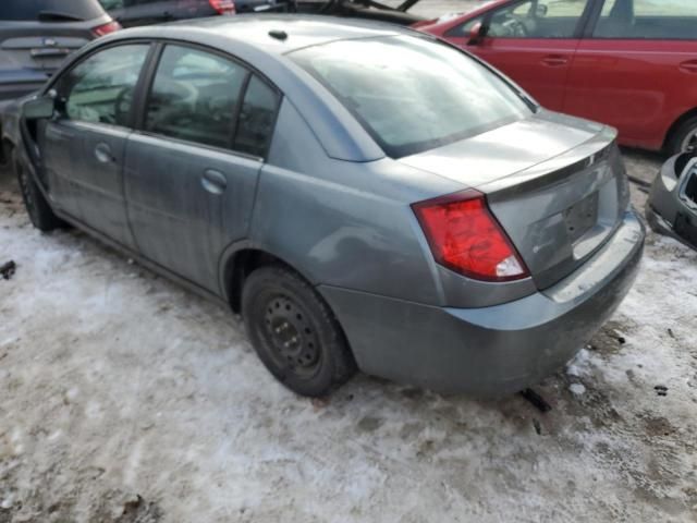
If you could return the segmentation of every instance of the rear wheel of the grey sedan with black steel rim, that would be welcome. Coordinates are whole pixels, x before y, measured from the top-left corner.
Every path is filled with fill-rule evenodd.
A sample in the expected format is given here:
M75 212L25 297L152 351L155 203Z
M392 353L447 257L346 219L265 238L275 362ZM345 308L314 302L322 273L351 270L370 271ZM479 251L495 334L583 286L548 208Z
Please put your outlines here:
M247 277L242 316L261 362L301 396L326 396L356 372L329 306L302 277L283 266L265 266Z

